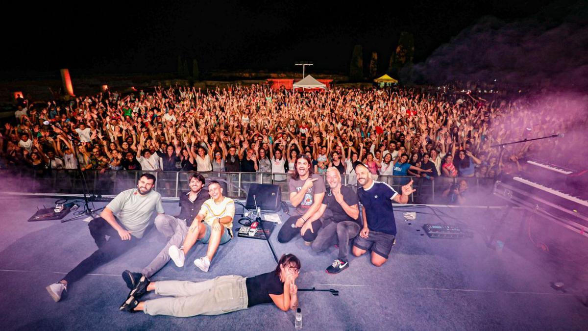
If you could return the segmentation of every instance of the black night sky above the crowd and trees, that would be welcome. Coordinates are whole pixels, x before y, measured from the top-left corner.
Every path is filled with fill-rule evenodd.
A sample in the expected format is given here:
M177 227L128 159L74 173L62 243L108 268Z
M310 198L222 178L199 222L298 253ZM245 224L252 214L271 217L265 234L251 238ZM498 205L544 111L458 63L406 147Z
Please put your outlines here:
M306 60L315 63L314 71L346 74L355 44L363 45L366 61L378 52L381 72L402 31L414 35L415 62L421 62L482 16L513 21L537 14L548 3L165 2L92 2L95 8L88 2L51 2L8 9L5 14L14 15L1 23L9 31L2 77L41 77L65 67L78 74L175 72L178 55L197 58L201 71L294 71L295 61Z

